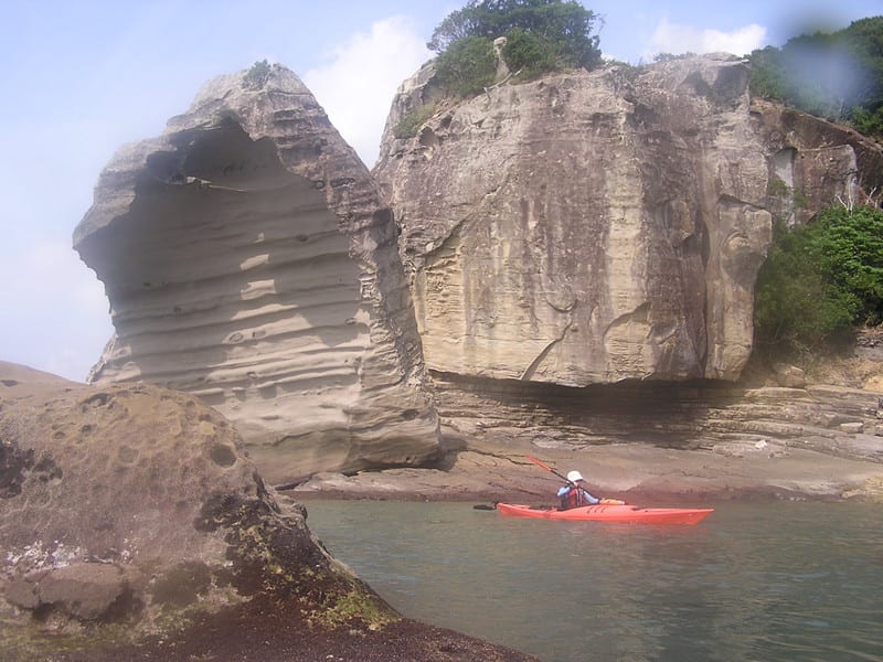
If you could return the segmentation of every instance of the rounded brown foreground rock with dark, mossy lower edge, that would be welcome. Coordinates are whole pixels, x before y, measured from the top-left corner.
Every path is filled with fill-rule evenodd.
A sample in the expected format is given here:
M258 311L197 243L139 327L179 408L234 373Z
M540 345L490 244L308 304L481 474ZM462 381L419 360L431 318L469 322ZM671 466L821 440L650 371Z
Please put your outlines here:
M193 396L0 362L0 659L528 660L405 620Z

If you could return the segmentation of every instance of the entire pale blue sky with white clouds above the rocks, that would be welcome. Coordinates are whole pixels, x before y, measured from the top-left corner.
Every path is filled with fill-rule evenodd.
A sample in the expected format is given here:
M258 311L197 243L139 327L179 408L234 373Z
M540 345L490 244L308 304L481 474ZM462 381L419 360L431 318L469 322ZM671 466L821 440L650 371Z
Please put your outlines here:
M370 168L398 85L465 0L0 0L0 361L82 382L113 334L72 248L102 169L162 134L200 87L292 70ZM883 14L883 0L583 0L605 57L737 55Z

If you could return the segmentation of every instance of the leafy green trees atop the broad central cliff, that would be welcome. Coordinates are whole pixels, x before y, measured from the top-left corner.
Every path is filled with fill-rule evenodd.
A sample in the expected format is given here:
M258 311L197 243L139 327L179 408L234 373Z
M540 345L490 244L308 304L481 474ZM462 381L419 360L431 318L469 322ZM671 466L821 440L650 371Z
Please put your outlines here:
M439 82L458 96L493 82L493 40L506 36L503 58L522 78L600 62L596 15L574 0L471 0L450 13L426 44L439 53Z

